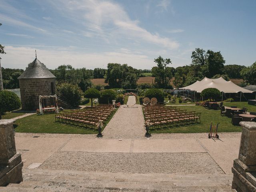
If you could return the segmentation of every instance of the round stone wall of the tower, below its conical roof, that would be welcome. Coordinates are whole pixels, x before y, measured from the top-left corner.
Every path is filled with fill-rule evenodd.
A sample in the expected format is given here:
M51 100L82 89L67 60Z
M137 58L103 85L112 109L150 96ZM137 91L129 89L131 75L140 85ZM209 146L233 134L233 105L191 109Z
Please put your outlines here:
M55 94L55 78L20 79L19 82L22 110L36 110L39 108L40 95ZM45 106L52 104L50 99L45 101Z

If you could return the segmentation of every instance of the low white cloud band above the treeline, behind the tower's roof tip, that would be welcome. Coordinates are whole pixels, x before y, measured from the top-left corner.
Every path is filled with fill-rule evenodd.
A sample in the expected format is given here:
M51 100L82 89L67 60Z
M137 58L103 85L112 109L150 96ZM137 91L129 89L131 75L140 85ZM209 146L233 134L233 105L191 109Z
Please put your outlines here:
M1 64L4 68L22 68L25 69L28 63L35 58L35 48L25 46L6 46L7 54L2 55ZM56 48L36 48L38 59L48 68L54 69L62 64L70 64L74 68L86 67L88 69L107 68L110 62L128 64L134 68L152 68L154 60L143 54L134 54L130 50L120 50L119 52L88 53L79 52L76 49Z

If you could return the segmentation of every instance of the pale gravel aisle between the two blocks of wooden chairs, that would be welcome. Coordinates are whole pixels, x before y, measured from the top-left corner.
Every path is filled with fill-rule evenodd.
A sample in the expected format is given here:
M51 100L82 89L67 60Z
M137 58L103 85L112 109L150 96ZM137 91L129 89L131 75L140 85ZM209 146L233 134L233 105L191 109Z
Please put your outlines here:
M130 102L132 103L133 101L130 100ZM125 108L122 105L104 129L102 133L103 137L115 139L145 138L144 118L141 106L135 105L134 107Z

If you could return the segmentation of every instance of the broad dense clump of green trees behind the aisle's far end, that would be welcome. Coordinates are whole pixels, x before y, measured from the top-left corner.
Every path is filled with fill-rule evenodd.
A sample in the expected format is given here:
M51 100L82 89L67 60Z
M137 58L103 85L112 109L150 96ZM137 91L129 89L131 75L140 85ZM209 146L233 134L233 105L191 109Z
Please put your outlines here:
M137 69L127 64L109 63L105 82L109 84L110 88L134 89L139 74Z

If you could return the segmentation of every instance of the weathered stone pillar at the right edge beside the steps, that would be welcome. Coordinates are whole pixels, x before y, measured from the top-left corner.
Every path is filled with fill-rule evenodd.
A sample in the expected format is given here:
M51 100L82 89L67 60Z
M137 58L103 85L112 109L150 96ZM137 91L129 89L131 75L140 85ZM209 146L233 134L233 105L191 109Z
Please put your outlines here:
M240 122L242 135L238 159L234 160L232 188L256 192L256 122Z

